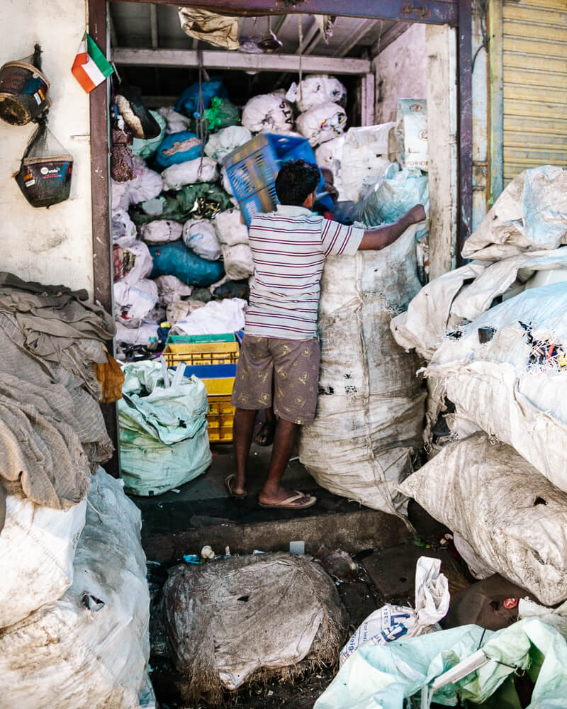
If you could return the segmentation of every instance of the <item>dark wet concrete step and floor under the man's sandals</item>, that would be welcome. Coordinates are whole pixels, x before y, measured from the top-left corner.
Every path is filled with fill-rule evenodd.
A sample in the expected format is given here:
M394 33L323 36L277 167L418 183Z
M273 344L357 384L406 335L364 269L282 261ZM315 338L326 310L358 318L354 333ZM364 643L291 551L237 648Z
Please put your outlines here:
M301 463L293 460L283 483L318 496L307 510L261 508L262 489L270 448L252 446L249 494L235 500L225 490L225 477L234 471L232 445L213 450L213 464L206 474L181 486L179 493L133 501L142 510L142 544L148 559L172 564L183 554L198 554L208 544L217 553L286 551L289 542L305 542L305 552L315 553L321 544L349 552L393 547L410 538L402 520L365 508L320 488Z

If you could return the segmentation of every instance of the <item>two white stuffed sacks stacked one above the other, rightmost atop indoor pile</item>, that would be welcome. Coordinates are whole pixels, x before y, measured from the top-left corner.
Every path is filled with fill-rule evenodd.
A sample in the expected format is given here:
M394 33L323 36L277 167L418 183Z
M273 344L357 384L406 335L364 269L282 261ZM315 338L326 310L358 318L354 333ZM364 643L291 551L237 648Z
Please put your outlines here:
M342 135L347 113L341 104L347 99L347 89L334 77L315 76L292 84L286 97L296 104L299 116L296 127L315 147Z

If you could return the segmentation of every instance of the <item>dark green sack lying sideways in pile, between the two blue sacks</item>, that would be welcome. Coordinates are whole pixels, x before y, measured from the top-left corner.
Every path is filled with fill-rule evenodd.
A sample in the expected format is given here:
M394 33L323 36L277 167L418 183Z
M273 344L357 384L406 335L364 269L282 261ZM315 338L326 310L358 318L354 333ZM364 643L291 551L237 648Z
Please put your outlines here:
M219 212L234 206L230 195L211 182L188 184L179 191L168 193L130 207L130 218L136 226L155 219L186 222L191 219L212 219Z

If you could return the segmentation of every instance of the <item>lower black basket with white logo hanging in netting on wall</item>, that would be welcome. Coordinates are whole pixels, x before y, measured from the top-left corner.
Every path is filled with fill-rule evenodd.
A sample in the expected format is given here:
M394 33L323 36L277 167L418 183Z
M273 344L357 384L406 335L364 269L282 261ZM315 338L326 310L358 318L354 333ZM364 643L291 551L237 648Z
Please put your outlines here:
M69 197L73 157L47 128L47 117L38 123L15 178L31 206L50 207Z

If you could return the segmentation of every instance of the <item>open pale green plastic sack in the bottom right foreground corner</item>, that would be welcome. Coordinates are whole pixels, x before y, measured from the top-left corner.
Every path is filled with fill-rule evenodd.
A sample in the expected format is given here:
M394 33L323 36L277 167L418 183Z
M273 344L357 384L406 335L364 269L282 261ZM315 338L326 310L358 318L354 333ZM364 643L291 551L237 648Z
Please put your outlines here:
M488 662L432 693L432 683L482 649ZM512 683L516 671L535 682L527 709L561 706L567 697L567 642L539 618L526 618L492 632L463 625L387 645L359 647L315 703L314 709L404 709L413 698L455 706L521 709ZM496 699L498 698L498 701ZM505 698L505 700L504 700Z

